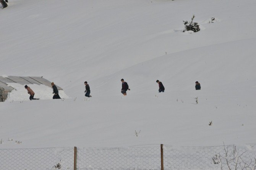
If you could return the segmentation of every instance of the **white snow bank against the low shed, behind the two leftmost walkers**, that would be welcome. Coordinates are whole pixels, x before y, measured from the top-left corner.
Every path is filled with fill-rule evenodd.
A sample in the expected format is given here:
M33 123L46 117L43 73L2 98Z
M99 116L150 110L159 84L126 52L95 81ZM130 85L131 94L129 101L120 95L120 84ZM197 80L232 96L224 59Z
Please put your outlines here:
M8 83L8 86L13 87L15 90L12 90L10 93L8 93L6 101L29 100L29 94L28 91L24 88L24 85L19 83ZM34 98L52 99L52 88L42 84L28 84L28 86L35 92ZM63 90L59 90L59 95L61 98L69 98Z

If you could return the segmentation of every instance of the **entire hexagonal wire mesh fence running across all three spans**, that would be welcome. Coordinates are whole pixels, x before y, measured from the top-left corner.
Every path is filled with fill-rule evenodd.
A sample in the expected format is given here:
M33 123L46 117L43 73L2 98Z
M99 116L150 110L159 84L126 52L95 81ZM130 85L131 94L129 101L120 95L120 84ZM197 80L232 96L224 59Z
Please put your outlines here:
M75 147L75 150L0 149L0 170L161 170L161 163L164 170L253 170L256 169L256 144L239 147L164 145L162 152L160 144L128 148Z

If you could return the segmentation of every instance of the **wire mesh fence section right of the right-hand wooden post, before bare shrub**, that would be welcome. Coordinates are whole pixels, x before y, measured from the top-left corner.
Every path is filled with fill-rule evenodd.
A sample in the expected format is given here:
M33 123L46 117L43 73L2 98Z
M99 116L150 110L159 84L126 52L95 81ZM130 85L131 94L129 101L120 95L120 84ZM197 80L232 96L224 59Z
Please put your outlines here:
M256 169L256 144L239 146L234 145L211 147L177 147L164 145L165 170L228 170L227 160L232 170ZM233 150L236 149L236 150ZM233 152L235 151L235 152ZM225 159L227 158L227 159ZM234 160L233 160L234 159ZM238 166L235 168L235 161ZM240 163L240 165L239 165Z

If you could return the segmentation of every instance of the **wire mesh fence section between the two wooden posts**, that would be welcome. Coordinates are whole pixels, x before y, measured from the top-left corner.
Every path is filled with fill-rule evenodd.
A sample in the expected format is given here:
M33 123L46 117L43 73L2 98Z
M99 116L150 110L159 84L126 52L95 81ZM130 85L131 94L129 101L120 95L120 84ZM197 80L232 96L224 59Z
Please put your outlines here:
M83 148L78 149L77 169L159 170L160 148Z

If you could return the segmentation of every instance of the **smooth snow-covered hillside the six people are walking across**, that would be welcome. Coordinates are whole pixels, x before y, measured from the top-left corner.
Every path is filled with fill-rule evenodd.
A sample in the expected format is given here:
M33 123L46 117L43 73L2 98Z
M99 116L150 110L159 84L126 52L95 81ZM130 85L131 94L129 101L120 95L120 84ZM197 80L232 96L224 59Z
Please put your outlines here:
M44 76L71 98L0 103L0 148L255 143L255 6L10 0L0 10L0 75ZM193 14L201 30L182 32ZM84 98L84 81L92 98Z

